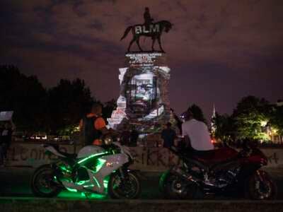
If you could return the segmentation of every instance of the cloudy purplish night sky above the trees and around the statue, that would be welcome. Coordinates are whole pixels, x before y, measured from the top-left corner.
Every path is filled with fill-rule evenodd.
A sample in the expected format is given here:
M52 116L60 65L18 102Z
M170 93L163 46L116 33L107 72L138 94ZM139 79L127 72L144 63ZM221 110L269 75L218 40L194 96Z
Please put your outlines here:
M174 24L163 48L177 112L195 102L209 116L213 103L231 113L246 95L283 98L282 0L1 0L0 64L15 64L47 88L79 77L96 98L117 98L130 39L120 37L143 23L144 6ZM149 42L141 39L144 47Z

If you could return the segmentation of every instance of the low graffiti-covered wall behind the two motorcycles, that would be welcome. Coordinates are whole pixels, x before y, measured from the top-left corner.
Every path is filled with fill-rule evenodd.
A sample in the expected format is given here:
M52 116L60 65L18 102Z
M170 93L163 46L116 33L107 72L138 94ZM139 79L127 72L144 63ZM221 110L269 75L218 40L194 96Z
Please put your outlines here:
M59 146L59 149L66 153L74 153L74 146ZM76 148L79 150L80 148ZM173 165L180 165L181 160L177 155L171 153L167 148L146 148L130 147L134 156L134 168L141 170L156 169L162 170ZM268 166L282 165L279 155L282 150L270 151L264 150L267 155ZM57 157L53 154L45 154L45 149L38 144L13 144L8 151L8 165L28 165L37 167L42 164L50 163Z

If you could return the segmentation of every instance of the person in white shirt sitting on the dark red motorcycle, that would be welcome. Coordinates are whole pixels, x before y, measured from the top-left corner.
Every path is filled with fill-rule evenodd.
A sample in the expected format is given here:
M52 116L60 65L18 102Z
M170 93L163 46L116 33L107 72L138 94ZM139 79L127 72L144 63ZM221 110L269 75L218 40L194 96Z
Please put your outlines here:
M192 112L185 114L185 122L182 124L183 137L187 137L190 146L195 151L210 151L214 149L207 125L194 119Z

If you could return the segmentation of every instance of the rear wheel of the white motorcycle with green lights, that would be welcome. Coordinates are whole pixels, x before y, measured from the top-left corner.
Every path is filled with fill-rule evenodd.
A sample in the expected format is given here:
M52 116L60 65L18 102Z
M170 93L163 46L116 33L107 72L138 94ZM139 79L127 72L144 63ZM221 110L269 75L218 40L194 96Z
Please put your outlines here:
M35 196L57 196L62 188L54 182L54 174L50 165L42 165L35 170L31 179L31 189Z

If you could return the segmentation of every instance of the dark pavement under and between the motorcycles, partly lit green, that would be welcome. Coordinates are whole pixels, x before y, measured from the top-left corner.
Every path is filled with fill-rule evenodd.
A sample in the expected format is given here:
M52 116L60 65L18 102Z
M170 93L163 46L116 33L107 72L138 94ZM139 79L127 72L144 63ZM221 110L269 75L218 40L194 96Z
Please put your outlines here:
M278 186L278 198L283 199L283 169L269 169L270 175L275 179ZM33 173L32 168L28 167L0 167L0 196L13 197L33 197L30 190L30 176ZM141 173L141 199L163 199L158 191L158 179L161 173L143 172ZM59 194L59 198L84 198L80 194L64 191ZM209 199L227 199L224 196Z

